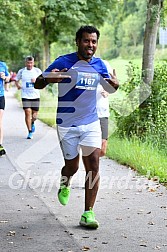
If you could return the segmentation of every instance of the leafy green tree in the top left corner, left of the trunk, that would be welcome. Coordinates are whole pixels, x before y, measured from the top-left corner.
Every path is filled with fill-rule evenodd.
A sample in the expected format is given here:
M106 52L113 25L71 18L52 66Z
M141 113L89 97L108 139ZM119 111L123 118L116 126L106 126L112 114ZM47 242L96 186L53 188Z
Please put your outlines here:
M0 55L9 67L17 71L28 54L40 50L40 0L0 0ZM35 29L36 28L36 29Z

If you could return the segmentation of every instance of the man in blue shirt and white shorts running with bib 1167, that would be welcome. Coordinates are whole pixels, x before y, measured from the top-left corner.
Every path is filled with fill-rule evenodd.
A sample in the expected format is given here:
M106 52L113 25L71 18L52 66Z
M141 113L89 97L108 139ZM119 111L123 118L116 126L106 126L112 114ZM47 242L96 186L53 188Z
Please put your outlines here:
M76 32L77 52L58 57L35 82L35 88L39 89L48 83L59 82L56 121L64 167L61 171L58 199L62 205L69 201L70 181L78 170L81 149L86 179L85 211L79 223L94 229L99 226L93 206L99 188L101 148L96 87L99 81L103 82L106 89L112 89L112 92L118 87L116 76L110 79L104 62L93 56L99 36L99 31L93 26L80 27ZM63 77L64 74L66 76ZM70 78L67 78L68 76ZM102 77L106 78L109 84Z

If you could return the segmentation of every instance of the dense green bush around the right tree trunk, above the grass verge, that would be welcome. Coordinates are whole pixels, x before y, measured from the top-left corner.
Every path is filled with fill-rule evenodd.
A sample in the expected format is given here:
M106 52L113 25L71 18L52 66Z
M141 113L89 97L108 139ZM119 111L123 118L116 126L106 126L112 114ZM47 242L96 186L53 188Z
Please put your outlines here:
M129 66L129 80L121 89L129 94L141 83L140 70ZM119 136L137 137L151 142L159 149L167 148L167 63L155 67L154 80L151 84L151 95L144 106L135 109L128 116L117 114Z

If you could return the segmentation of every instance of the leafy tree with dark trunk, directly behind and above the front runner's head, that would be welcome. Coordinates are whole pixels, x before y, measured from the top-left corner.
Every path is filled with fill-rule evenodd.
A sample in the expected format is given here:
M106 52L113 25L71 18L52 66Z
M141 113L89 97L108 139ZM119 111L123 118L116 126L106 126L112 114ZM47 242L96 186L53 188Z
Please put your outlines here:
M103 24L109 8L116 0L48 0L40 8L44 11L41 28L44 37L44 68L50 63L50 45L60 39L61 34L71 37L83 24Z

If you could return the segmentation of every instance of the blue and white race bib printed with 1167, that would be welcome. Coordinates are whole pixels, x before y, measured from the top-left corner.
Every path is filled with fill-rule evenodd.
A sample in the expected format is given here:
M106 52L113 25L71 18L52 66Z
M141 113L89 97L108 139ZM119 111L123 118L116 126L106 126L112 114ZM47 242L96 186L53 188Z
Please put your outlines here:
M98 73L78 72L75 88L94 90L97 88L98 83L99 83Z

